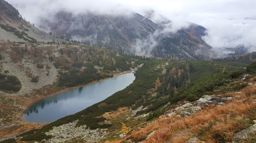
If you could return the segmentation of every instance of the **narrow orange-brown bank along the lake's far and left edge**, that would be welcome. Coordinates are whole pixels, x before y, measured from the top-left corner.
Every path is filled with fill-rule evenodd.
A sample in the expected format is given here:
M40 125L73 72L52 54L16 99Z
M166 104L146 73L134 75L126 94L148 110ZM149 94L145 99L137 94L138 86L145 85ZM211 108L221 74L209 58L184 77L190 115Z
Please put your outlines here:
M129 71L124 71L124 72L121 72L121 73L116 73L114 74L113 77L116 77L116 76L119 76L119 75L122 75L122 74L127 74L127 73L135 73L137 71L137 68L135 69L132 69L132 70L129 70ZM79 85L79 86L76 86L76 87L72 87L72 88L67 88L67 89L64 89L64 90L60 90L60 91L56 91L54 93L51 93L49 95L46 95L44 97L42 96L37 96L35 99L30 99L27 101L27 104L25 104L26 106L26 109L22 111L22 113L20 113L20 119L22 119L22 123L33 123L33 124L49 124L49 123L34 123L34 122L26 122L24 119L23 119L23 115L28 111L29 107L36 103L37 101L40 101L42 99L45 99L45 98L48 98L48 97L51 97L51 96L54 96L54 95L57 95L57 94L60 94L60 93L64 93L64 92L67 92L67 91L70 91L70 90L73 90L73 89L79 89L79 88L83 88L83 87L86 87L87 85L90 85L90 84L94 84L94 83L97 83L97 82L100 82L100 81L103 81L103 80L106 80L106 79L110 79L110 78L113 78L113 77L107 77L107 78L103 78L103 79L100 79L100 80L96 80L96 81L92 81L90 83L87 83L87 84L84 84L84 85Z

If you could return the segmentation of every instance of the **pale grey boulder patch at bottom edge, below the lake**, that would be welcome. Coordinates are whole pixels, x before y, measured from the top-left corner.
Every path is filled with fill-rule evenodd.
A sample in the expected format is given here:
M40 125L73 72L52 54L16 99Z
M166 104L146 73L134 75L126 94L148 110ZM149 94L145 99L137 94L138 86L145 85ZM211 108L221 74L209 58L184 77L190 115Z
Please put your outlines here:
M97 142L105 137L106 130L104 129L91 130L86 126L76 127L76 123L77 121L53 127L52 130L45 134L53 136L49 139L50 142L65 142L75 137L81 137L86 142Z

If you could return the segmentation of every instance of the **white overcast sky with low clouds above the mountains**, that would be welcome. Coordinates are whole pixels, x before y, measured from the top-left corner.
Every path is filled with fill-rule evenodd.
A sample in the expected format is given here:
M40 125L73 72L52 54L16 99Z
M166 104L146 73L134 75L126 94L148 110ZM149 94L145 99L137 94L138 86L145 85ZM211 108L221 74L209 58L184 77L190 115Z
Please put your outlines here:
M37 25L38 17L60 9L74 13L90 10L99 13L144 15L154 10L182 27L185 21L207 28L205 41L214 47L236 47L244 44L256 51L255 0L7 0L26 20Z

